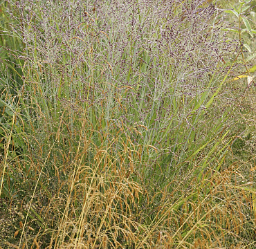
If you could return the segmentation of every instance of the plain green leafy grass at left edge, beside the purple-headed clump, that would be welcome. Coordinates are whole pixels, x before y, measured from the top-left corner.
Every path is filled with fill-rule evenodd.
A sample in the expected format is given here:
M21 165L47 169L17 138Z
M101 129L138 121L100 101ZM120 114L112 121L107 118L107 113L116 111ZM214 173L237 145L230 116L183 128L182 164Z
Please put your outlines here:
M7 1L0 4L0 140L5 133L3 129L9 129L12 124L12 111L18 102L16 89L23 85L21 65L24 61L17 57L23 49L23 44L19 34L11 31L13 21L8 15L7 6ZM3 154L3 143L0 145L0 154Z

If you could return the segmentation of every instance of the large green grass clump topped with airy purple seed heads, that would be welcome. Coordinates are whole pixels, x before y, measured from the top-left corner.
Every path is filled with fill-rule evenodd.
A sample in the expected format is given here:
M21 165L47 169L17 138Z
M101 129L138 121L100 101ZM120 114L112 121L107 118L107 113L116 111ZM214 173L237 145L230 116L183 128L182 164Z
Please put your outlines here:
M201 1L100 3L18 3L27 8L21 36L33 54L27 89L39 93L48 116L51 104L51 118L61 107L72 115L87 109L102 130L110 120L132 127L127 132L149 161L173 156L163 169L170 174L190 154L195 117L228 72L223 57L236 44L221 37L217 8ZM179 132L185 136L176 140ZM156 149L147 153L145 145Z

